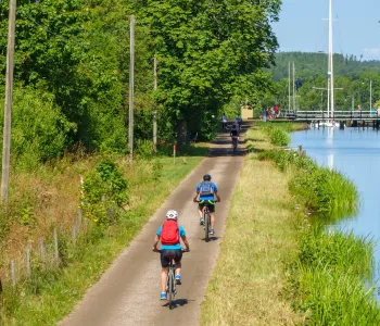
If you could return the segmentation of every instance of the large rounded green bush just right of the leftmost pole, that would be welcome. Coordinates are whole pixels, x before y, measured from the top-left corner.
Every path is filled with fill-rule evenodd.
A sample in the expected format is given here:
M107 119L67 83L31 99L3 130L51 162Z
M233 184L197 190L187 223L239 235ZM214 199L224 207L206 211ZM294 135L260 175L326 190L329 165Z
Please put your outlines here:
M3 102L0 103L3 121ZM0 125L2 133L3 124ZM55 159L68 145L72 125L54 104L51 93L31 87L15 87L12 112L13 162L33 168L38 163Z

